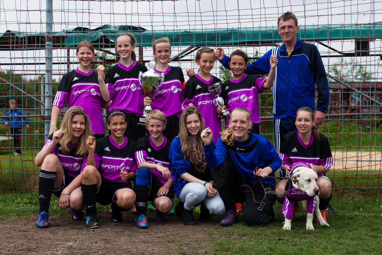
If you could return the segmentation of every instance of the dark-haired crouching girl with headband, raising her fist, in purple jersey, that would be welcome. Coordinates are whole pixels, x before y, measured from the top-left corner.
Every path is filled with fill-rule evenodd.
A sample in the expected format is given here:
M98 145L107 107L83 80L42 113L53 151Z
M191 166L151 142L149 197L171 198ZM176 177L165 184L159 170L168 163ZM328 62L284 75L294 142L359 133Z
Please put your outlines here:
M131 181L135 180L136 142L125 136L126 116L114 109L107 115L107 128L111 135L95 140L89 136L87 165L82 175L81 190L86 208L86 227L99 227L95 202L112 204L112 223L123 221L121 211L128 211L135 203Z

